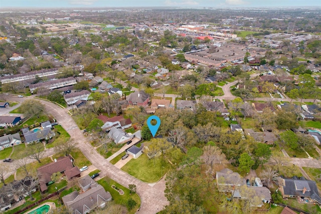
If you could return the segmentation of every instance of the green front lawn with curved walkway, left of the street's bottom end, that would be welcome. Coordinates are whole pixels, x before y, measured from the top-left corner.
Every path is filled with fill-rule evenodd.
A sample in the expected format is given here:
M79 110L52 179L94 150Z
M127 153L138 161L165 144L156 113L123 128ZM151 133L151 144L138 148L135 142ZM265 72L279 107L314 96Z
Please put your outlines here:
M130 195L129 194L129 189L120 185L119 183L117 183L116 181L108 178L108 177L104 177L100 180L97 181L100 185L102 185L106 191L109 191L113 200L115 201L115 203L117 204L121 204L126 206L127 200L129 198L133 199L134 201L136 201L136 206L134 208L132 208L131 210L128 210L128 213L136 213L136 210L138 209L138 207L140 206L140 198L139 196L135 193ZM118 191L116 191L114 188L111 187L111 185L115 185L118 188L122 189L124 191L123 195L120 195L118 193Z

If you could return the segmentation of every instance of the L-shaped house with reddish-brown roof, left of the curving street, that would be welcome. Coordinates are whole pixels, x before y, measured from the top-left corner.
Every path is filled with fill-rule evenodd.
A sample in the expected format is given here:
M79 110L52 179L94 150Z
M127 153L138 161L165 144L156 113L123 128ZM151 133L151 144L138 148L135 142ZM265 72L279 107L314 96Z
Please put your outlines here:
M48 190L48 183L51 181L51 175L56 172L60 172L66 175L67 179L70 180L73 177L80 177L80 171L78 167L72 163L73 159L71 156L60 157L55 159L55 162L48 163L40 166L37 169L39 184L41 192Z

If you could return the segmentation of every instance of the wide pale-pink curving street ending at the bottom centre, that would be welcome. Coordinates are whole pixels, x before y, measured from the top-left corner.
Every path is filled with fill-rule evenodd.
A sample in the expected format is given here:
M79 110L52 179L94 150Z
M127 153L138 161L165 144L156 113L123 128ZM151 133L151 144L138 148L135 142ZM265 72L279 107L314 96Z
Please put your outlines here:
M128 187L128 184L136 184L137 193L141 198L141 207L137 213L156 213L164 209L164 206L169 203L164 195L164 178L151 186L118 169L105 160L105 158L87 142L86 137L78 128L72 117L66 112L66 109L62 109L51 102L40 101L46 106L47 112L54 116L70 136L78 142L77 146L88 160L101 170L99 173L101 177L108 175L108 177L126 187Z

